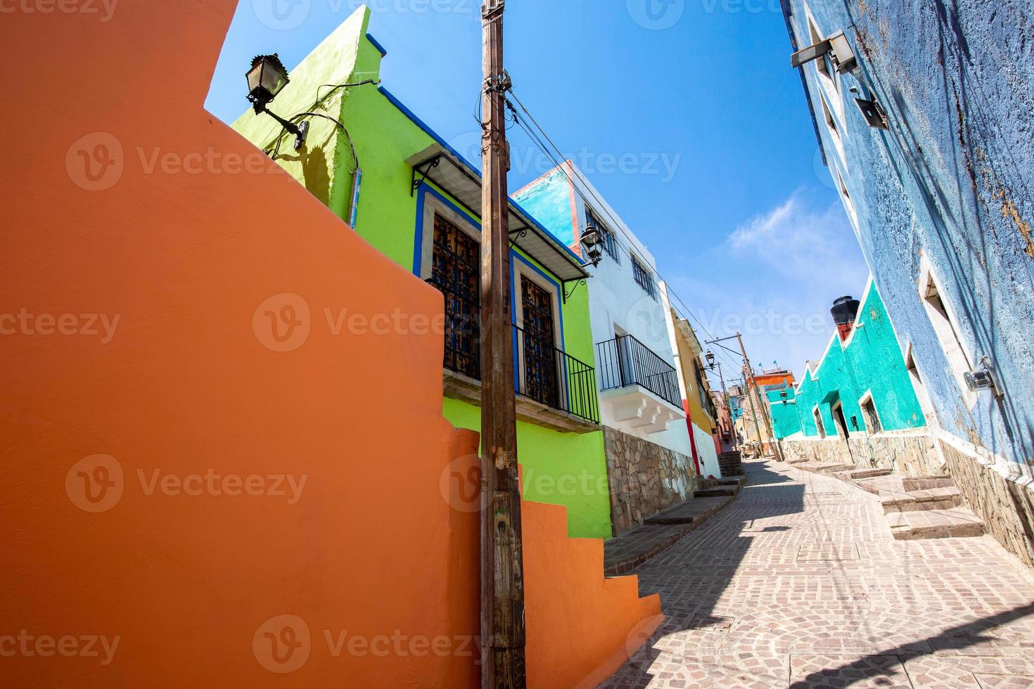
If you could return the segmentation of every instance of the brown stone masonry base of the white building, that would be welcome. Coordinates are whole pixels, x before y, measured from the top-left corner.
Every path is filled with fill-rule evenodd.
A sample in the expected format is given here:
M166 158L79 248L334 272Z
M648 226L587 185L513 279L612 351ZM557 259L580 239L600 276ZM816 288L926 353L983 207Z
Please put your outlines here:
M607 426L603 437L615 536L693 497L693 458Z

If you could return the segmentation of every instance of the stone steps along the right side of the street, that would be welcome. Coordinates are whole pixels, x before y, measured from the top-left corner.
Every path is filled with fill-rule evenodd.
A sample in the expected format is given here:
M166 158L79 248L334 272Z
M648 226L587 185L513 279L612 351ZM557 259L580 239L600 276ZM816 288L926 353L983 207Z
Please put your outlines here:
M983 535L983 522L966 506L950 476L898 476L889 469L833 463L797 462L793 466L829 474L877 496L896 540Z

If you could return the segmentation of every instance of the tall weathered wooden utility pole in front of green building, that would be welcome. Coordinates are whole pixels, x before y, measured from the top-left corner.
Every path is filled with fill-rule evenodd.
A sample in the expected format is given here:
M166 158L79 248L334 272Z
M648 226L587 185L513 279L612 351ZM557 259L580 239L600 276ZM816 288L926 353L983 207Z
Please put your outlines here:
M483 689L524 687L524 559L521 551L510 215L503 69L505 0L481 8L484 43L481 193L481 643Z

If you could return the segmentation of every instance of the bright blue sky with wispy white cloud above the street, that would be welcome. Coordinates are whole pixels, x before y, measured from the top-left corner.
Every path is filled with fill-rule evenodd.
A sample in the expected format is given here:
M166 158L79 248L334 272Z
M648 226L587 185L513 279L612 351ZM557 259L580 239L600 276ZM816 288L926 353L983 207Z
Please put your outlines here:
M208 109L236 119L252 56L277 52L290 69L359 4L241 0ZM476 159L478 0L367 4L384 86ZM756 364L798 375L821 356L829 306L860 295L869 271L819 159L779 0L510 0L506 23L516 94L706 331L740 330ZM515 190L548 165L511 135Z

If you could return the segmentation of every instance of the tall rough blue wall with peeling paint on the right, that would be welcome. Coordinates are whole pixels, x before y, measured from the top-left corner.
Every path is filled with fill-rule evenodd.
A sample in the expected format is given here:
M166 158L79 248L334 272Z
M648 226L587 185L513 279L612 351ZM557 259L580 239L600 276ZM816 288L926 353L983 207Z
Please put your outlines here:
M939 420L1029 472L1034 458L1034 11L1028 0L783 0L791 38L845 31L839 88L802 68L817 134L861 248ZM875 98L889 129L855 104ZM825 105L823 104L825 103ZM841 103L843 103L841 105ZM826 112L828 111L828 116ZM833 121L839 134L827 124ZM919 297L941 283L963 349L1005 388L967 395ZM804 419L808 430L807 418Z

